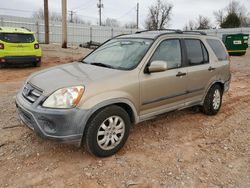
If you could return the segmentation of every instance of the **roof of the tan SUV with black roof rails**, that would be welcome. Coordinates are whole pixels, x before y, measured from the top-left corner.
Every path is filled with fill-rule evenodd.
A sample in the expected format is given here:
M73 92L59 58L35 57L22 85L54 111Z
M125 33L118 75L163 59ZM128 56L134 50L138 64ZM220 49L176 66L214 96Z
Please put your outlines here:
M145 30L139 31L135 34L130 35L122 35L118 36L118 38L146 38L146 39L156 39L162 35L188 35L188 36L204 36L207 35L205 32L202 31L181 31L181 30Z

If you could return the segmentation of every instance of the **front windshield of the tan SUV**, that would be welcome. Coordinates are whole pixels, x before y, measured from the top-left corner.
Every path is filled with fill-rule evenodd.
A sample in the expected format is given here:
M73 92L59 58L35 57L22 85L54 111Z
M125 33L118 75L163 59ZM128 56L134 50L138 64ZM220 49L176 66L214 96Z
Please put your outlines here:
M83 62L95 66L131 70L140 63L152 42L150 39L113 39L86 57Z

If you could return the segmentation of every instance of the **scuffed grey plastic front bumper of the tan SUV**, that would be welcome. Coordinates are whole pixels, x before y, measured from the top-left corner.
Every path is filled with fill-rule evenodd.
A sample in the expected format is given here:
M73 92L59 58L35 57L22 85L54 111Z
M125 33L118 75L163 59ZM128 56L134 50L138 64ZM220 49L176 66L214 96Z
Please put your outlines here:
M18 93L16 107L22 122L42 138L80 146L89 111L47 109L39 103L41 99L31 104Z

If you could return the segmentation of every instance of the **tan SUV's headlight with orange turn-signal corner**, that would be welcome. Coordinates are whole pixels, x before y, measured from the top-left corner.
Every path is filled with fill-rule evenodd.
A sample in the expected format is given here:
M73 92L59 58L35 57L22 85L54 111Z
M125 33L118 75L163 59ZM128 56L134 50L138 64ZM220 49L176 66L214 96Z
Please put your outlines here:
M61 109L73 108L79 103L83 93L83 86L59 89L44 101L43 107Z

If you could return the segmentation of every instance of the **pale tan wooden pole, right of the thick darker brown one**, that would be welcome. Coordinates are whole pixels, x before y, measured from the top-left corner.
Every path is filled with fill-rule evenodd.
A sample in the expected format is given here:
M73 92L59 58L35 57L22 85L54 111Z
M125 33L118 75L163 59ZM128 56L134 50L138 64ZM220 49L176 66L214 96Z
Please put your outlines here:
M62 0L62 48L67 48L67 0Z

